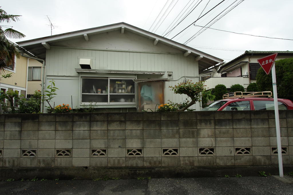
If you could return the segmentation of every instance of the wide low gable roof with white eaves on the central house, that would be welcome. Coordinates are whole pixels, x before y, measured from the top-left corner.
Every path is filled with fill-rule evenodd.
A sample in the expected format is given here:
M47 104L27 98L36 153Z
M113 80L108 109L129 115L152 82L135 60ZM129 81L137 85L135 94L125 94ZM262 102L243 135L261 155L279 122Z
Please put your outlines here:
M129 31L131 33L140 35L142 37L146 37L152 41L158 40L159 43L167 45L169 47L176 48L180 51L182 51L182 54L185 52L190 52L190 54L194 55L195 57L199 57L199 70L207 69L211 66L214 66L218 63L222 63L223 60L219 59L217 57L214 57L212 55L209 55L207 53L201 52L197 49L194 49L192 47L188 47L186 45L183 45L181 43L178 43L176 41L167 39L165 37L162 37L160 35L156 35L154 33L151 33L149 31L143 30L141 28L137 28L135 26L132 26L130 24L121 22L111 25L105 25L95 28L88 28L84 30L77 30L69 33L62 33L59 35L52 35L47 37L41 37L37 39L27 40L27 41L21 41L17 42L17 44L22 47L23 49L27 50L28 52L34 54L35 56L39 57L40 59L46 58L46 48L42 45L42 43L46 42L50 45L50 43L74 39L76 37L83 37L85 34L88 36L121 30L124 28L125 31Z

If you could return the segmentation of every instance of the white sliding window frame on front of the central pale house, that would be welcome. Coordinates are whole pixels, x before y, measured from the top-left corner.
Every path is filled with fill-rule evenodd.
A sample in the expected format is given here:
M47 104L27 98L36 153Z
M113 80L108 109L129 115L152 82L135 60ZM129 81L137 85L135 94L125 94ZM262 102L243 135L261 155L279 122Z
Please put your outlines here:
M103 93L82 93L82 84L83 84L83 79L107 79L108 80L108 93L103 94ZM136 107L137 104L137 90L136 90L136 83L133 81L134 84L134 93L110 93L110 80L133 80L136 79L135 77L89 77L89 76L81 76L80 79L80 105L101 105L101 106L119 106L119 105L132 105L132 107ZM108 96L108 102L82 102L82 95L107 95ZM110 95L134 95L134 102L110 102Z

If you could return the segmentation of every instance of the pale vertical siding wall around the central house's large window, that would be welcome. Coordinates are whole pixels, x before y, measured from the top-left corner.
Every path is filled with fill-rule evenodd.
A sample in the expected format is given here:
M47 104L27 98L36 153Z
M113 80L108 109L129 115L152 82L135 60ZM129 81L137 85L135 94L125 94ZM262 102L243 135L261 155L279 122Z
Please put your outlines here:
M197 77L189 78L194 82L198 79L198 63L195 57L190 55L184 57L183 54L164 54L164 53L150 53L150 52L123 52L123 51L103 51L103 50L90 50L90 49L70 49L51 47L47 50L46 55L46 75L47 85L51 78L56 81L57 88L64 88L69 90L58 90L57 97L53 100L55 105L71 102L71 94L77 97L73 98L73 105L78 104L79 93L79 74L75 69L80 68L79 58L92 59L92 69L102 70L129 70L129 71L170 71L173 72L173 79L177 80L183 76ZM59 77L62 79L59 79ZM66 77L63 77L66 76ZM76 76L76 77L72 77ZM97 76L99 76L97 74ZM50 80L49 80L50 78ZM64 80L64 78L74 80ZM167 75L141 75L138 74L137 78L167 78ZM185 96L174 94L168 86L176 85L183 81L184 78L178 81L169 81L165 85L165 102L171 100L173 102L182 103ZM195 108L195 106L193 107ZM199 104L196 105L199 110Z

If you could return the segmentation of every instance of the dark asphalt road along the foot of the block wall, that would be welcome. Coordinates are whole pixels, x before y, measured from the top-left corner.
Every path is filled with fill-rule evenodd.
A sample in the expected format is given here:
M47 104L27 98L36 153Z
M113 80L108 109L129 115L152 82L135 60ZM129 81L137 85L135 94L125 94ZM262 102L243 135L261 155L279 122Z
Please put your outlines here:
M293 177L1 181L0 194L293 194Z

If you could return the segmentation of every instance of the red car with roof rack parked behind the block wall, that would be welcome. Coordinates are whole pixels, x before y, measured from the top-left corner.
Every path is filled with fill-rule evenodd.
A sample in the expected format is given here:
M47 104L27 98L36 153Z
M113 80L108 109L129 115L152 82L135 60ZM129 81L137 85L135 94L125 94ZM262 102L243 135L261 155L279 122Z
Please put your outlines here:
M238 94L238 95L237 95ZM266 95L265 95L266 94ZM267 97L267 98L259 98ZM232 92L223 95L223 100L217 100L202 111L208 110L274 110L272 92ZM293 110L293 102L278 98L279 110Z

